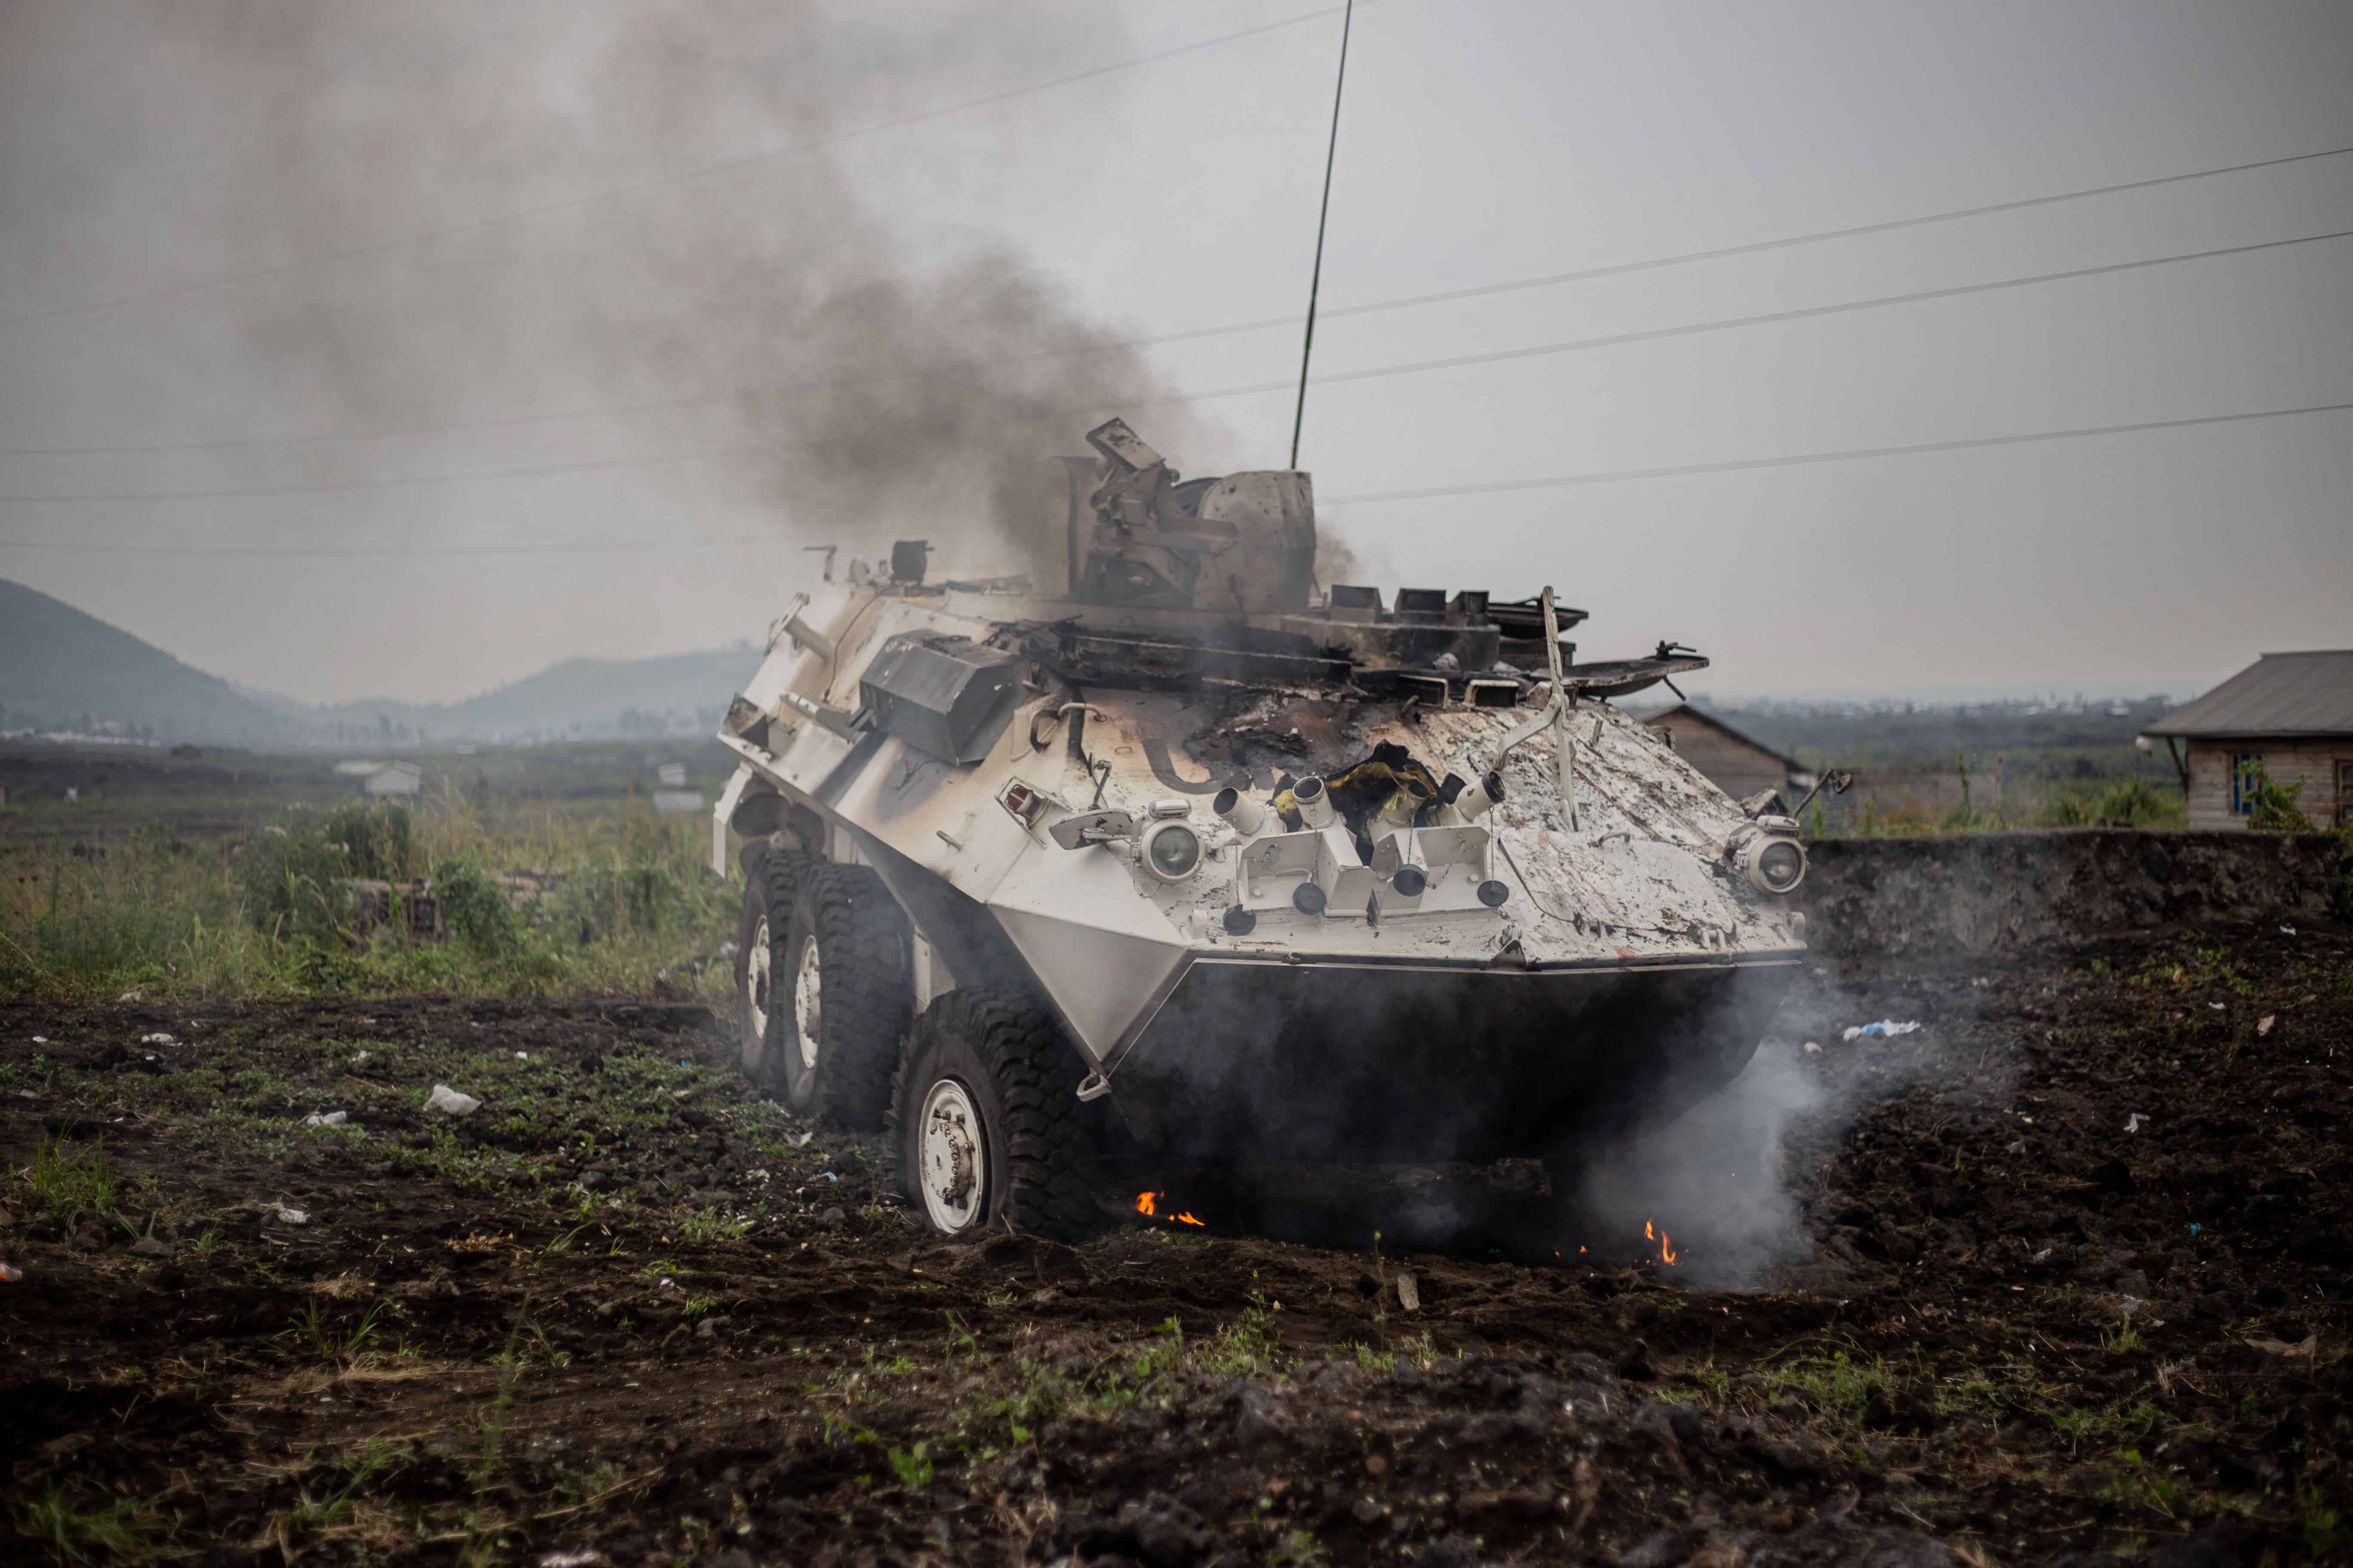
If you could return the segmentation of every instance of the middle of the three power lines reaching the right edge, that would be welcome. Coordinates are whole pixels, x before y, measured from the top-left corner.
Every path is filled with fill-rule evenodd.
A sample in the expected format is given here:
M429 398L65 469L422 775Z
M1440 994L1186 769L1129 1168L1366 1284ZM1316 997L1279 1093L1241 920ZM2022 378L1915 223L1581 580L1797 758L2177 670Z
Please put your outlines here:
M1529 357L1544 357L1544 355L1565 355L1565 353L1581 353L1581 350L1591 350L1591 348L1621 348L1626 343L1654 343L1654 341L1661 341L1661 339L1699 336L1699 334L1708 334L1708 331L1734 331L1734 329L1741 329L1741 327L1767 327L1767 324L1777 324L1777 322L1802 322L1802 320L1814 320L1814 317L1824 317L1824 315L1847 315L1847 313L1854 313L1854 310L1880 310L1880 308L1892 308L1892 306L1915 306L1915 303L1937 301L1937 299L1960 299L1960 296L1967 296L1967 294L1995 294L1995 292L2002 292L2002 289L2024 289L2028 284L2042 284L2042 282L2068 282L2068 280L2078 280L2078 277L2099 277L2099 275L2108 275L2108 273L2134 273L2134 270L2155 268L2155 266L2177 266L2177 263L2186 263L2186 261L2212 261L2217 256L2245 256L2245 254L2254 254L2254 252L2287 249L2287 247L2294 247L2294 244L2320 244L2325 240L2346 240L2346 237L2353 237L2353 228L2348 228L2348 230L2332 230L2332 233L2325 233L2325 235L2301 235L2301 237L2294 237L2294 240L2257 240L2252 244L2224 244L2224 247L2217 247L2217 249L2184 252L2184 254L2177 254L2177 256L2146 256L2146 259L2139 259L2139 261L2106 261L2101 266L2066 268L2066 270L2059 270L2059 273L2028 273L2026 277L1998 277L1998 280L1991 280L1991 282L1967 282L1967 284L1953 284L1953 287L1946 287L1946 289L1915 289L1911 294L1882 294L1882 296L1873 296L1873 299L1840 301L1840 303L1833 303L1833 306L1800 306L1795 310L1767 310L1762 315L1737 315L1737 317L1725 317L1725 320L1715 320L1715 322L1689 322L1689 324L1682 324L1682 327L1649 327L1649 329L1642 329L1642 331L1614 331L1614 334L1593 336L1593 339L1567 339L1567 341L1560 341L1560 343L1525 343L1525 346L1518 346L1518 348L1492 348L1492 350L1475 353L1475 355L1447 355L1442 360L1407 360L1407 362L1400 362L1400 364L1377 364L1377 367L1355 369L1355 371L1329 371L1329 374L1315 376L1315 386L1337 386L1337 383L1346 383L1346 381L1379 381L1379 378L1388 378L1388 376L1414 376L1414 374L1438 371L1438 369L1464 369L1464 367L1471 367L1471 364L1497 364L1497 362L1506 362L1506 360L1529 360ZM1169 393L1165 397L1132 397L1132 400L1122 400L1120 407L1136 409L1136 407L1155 407L1155 404L1214 402L1214 400L1221 400L1221 397L1252 397L1252 395L1287 393L1287 390L1292 390L1292 381L1249 381L1249 383L1242 383L1242 386L1212 388L1212 390L1205 390L1205 393ZM1078 414L1078 411L1087 411L1087 409L1068 409L1068 411ZM405 477L386 477L386 480L339 480L339 482L325 482L325 484L249 484L249 487L231 487L231 489L82 491L82 494L19 494L19 496L5 496L5 494L0 494L0 501L7 501L7 503L226 501L226 498L235 498L235 496L353 494L353 491L376 491L376 489L409 489L409 487L416 487L416 484L459 484L459 482L473 482L473 480L539 480L539 477L567 475L567 473L605 473L605 470L616 470L616 468L659 468L664 463L692 463L692 461L725 458L725 456L774 454L774 451L786 449L791 444L798 444L798 442L755 442L755 444L739 442L739 444L729 444L729 447L704 447L704 449L696 449L696 451L671 451L671 454L647 456L647 458L593 458L593 461L579 461L579 463L534 463L534 465L522 465L522 468L478 468L478 470L471 470L471 473L405 475Z

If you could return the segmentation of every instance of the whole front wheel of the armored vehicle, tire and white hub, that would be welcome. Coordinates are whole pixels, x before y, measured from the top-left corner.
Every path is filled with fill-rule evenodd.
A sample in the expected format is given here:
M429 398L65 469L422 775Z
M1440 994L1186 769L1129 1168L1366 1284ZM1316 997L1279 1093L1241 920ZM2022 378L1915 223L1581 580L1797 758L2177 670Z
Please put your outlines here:
M944 1237L1080 1241L1096 1222L1078 1053L1042 1006L955 990L915 1020L892 1093L899 1187Z

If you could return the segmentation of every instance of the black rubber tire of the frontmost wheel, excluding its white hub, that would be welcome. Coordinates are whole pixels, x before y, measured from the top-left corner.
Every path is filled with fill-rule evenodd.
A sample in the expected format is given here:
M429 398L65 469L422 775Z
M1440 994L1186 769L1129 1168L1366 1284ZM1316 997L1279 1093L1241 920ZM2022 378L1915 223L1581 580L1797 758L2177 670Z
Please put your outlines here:
M922 1201L922 1105L941 1079L962 1084L981 1124L986 1190L958 1234L1016 1232L1085 1241L1096 1204L1096 1133L1078 1103L1080 1056L1054 1016L998 990L953 990L915 1020L892 1084L889 1140L915 1220L941 1229Z

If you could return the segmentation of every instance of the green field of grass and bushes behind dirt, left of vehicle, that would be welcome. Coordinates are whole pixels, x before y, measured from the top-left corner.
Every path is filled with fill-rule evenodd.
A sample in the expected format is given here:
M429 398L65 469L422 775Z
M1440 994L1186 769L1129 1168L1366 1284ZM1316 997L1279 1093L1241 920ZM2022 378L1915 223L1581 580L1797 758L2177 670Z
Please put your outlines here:
M416 804L311 759L12 757L0 994L725 990L711 818L654 813L624 748L567 752L452 757ZM412 886L440 931L402 922Z

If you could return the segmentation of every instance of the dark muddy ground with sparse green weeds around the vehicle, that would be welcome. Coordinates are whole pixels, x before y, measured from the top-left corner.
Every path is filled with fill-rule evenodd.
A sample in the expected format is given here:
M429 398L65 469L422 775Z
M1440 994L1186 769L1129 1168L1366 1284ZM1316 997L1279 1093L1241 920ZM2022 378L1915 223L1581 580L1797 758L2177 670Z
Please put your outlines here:
M9 1544L2353 1559L2348 933L1814 971L1774 1034L1798 1248L1732 1269L1755 1168L1678 1185L1673 1265L1537 1166L1301 1175L1252 1208L1299 1239L1172 1173L1207 1227L944 1246L694 1006L5 1006Z

